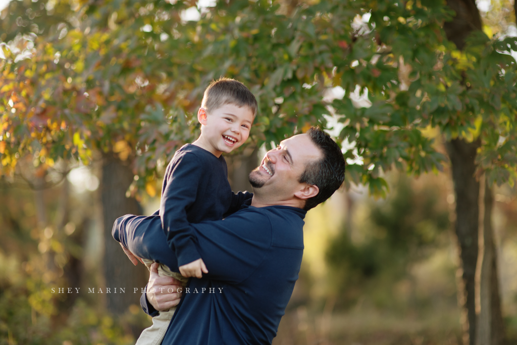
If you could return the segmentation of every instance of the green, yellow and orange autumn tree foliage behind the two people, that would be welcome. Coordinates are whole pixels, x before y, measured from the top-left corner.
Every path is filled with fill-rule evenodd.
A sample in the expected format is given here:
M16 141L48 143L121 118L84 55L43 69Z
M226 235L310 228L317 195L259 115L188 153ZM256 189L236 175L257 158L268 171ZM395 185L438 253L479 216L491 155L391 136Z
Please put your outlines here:
M454 41L444 23L458 24L459 17L443 1L234 1L201 14L194 2L70 8L24 1L2 16L13 39L0 62L7 175L17 155L37 152L47 165L73 156L86 164L101 151L137 173L130 194L144 187L153 193L163 163L197 133L192 112L203 89L224 75L257 97L248 145L270 146L310 125L326 127L334 116L343 126L338 139L349 148L345 158L354 159L347 183L368 184L376 197L386 195L382 174L392 168L414 175L442 168L446 157L429 128L439 128L449 146L475 148L475 161L459 164L472 169L462 174L484 173L490 185L517 176L517 74L508 55L517 42L479 30ZM465 4L474 11L472 1ZM37 8L54 24L39 21ZM69 8L66 16L62 8ZM187 10L199 20L187 20ZM324 97L333 87L346 97ZM367 95L371 107L354 106L354 93ZM454 176L457 186L463 182ZM459 228L468 227L460 207L467 200L457 192ZM463 232L458 237L467 241Z

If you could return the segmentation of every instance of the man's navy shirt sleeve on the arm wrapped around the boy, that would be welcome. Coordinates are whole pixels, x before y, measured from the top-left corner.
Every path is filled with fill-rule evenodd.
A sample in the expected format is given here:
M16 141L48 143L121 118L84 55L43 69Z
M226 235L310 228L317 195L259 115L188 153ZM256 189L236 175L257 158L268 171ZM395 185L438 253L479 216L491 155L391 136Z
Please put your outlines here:
M160 225L157 216L120 217L115 221L113 237L136 256L176 271L177 261L174 253L164 248L165 235ZM261 264L272 241L269 218L255 208L241 210L223 220L190 224L190 231L208 269L204 276L229 283L249 277Z

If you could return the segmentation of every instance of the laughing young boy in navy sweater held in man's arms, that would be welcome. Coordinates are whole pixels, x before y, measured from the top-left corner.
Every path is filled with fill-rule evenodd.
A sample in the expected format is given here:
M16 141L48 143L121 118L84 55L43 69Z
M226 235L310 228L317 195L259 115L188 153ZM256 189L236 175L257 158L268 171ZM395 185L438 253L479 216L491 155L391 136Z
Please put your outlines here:
M248 139L256 112L255 97L239 81L220 78L206 88L197 112L201 135L176 152L163 178L159 215L181 274L160 264L160 276L172 276L185 286L188 277L201 278L202 273L208 273L188 223L222 219L253 196L249 192L232 192L222 153L232 152ZM144 260L144 263L150 267L153 261ZM160 311L136 345L160 344L175 310L176 307Z

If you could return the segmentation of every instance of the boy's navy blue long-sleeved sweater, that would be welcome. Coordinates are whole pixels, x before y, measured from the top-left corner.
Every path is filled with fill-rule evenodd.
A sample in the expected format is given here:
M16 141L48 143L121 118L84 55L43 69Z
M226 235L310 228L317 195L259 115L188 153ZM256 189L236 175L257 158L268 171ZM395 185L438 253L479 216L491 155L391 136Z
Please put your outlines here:
M249 192L232 192L222 155L217 158L192 144L178 149L165 170L159 214L179 266L201 258L189 223L222 219L252 196Z

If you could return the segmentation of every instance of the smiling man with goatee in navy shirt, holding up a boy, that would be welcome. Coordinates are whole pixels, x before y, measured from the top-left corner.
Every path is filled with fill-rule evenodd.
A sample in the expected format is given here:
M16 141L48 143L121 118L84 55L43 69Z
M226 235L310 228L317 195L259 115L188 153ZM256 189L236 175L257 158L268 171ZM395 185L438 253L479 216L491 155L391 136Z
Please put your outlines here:
M344 171L339 146L313 127L282 141L250 173L250 206L224 220L190 224L208 274L190 280L162 343L271 343L298 279L303 218L340 187ZM177 269L159 217L121 217L113 236L136 256ZM142 296L150 315L177 303L177 294L153 292L167 286L157 279L154 269Z

